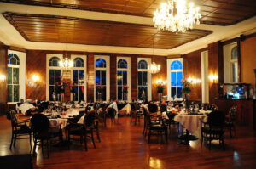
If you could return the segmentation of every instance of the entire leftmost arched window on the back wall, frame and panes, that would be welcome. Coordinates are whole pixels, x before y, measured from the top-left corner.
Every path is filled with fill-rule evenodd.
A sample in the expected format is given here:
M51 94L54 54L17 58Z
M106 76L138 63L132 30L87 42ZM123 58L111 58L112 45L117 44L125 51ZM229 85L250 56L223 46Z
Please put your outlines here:
M62 58L61 54L47 54L48 66L47 66L47 99L49 101L60 101L61 97L57 90L57 82L61 82L61 67L59 67L59 62Z

